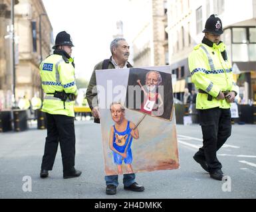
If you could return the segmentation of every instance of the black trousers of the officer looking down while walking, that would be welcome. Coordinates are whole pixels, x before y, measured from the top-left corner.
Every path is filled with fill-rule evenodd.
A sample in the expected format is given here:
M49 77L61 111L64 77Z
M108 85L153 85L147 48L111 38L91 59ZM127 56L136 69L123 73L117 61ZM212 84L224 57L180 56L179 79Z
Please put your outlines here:
M231 111L219 107L197 111L203 132L203 147L195 155L206 160L209 173L213 173L222 168L216 152L231 135Z

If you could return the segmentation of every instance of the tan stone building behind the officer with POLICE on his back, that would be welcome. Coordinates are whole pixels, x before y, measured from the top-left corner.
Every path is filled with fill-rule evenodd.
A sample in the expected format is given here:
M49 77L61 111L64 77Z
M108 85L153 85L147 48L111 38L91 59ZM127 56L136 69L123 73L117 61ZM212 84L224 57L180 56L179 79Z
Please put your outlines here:
M5 1L7 8L10 8L10 0ZM1 25L10 25L9 17L3 18ZM41 24L41 36L40 36ZM2 29L4 27L1 27ZM8 27L7 27L8 28ZM9 93L13 93L13 71L11 57L11 39L3 40L1 32L1 41L5 45L5 50L1 52L1 72L0 79L4 78L4 86L0 90L5 101L5 107L9 107ZM41 38L41 40L40 40ZM42 45L41 45L42 44ZM53 27L47 16L43 1L19 0L15 5L15 96L16 101L26 95L31 99L35 94L41 95L41 79L39 74L39 64L41 58L51 54L53 46ZM4 55L4 57L3 57ZM5 79L9 76L7 79ZM1 83L2 84L2 83ZM8 93L8 94L7 94Z

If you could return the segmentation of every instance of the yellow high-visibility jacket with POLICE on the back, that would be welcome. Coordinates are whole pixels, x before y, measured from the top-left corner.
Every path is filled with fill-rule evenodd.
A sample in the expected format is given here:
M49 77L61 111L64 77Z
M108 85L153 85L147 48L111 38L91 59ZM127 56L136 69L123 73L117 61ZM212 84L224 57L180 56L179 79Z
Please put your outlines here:
M65 91L77 95L74 67L72 58L63 58L58 54L52 54L46 58L40 66L43 91L46 93L42 111L55 115L74 117L74 101L53 97L55 91Z

